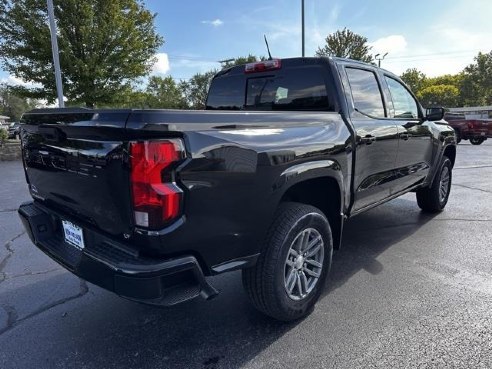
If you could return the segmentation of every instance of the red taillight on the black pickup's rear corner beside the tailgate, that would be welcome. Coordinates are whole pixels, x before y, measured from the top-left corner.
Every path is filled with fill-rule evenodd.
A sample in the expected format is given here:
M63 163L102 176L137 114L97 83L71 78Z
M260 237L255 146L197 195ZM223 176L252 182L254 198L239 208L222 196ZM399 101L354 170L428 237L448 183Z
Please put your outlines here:
M135 224L160 229L181 210L183 192L174 183L171 165L185 157L183 142L130 143L130 180Z

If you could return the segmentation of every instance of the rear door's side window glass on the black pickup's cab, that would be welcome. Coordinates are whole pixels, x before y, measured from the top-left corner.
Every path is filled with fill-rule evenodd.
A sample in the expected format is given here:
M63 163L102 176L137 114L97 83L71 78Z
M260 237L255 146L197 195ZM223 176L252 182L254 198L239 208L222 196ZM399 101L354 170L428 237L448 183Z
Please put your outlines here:
M374 72L357 68L346 68L345 70L355 109L370 117L384 118L383 98Z

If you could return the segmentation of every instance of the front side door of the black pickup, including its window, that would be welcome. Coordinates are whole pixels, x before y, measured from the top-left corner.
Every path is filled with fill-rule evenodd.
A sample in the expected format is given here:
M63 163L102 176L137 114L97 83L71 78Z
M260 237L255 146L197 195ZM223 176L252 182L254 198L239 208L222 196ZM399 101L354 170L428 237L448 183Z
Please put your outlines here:
M392 193L404 191L422 182L432 161L432 132L422 120L421 109L407 88L391 76L384 76L388 86L389 113L398 127L398 180Z

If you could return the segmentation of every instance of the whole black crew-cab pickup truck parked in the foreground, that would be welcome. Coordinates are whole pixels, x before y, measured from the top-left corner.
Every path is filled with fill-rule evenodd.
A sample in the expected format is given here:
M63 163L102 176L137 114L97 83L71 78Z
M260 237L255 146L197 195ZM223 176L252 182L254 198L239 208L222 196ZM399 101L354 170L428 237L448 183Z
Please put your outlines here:
M441 211L456 156L443 109L338 58L222 70L207 111L34 110L22 118L32 242L87 281L173 305L242 269L276 319L319 298L344 222L409 191Z

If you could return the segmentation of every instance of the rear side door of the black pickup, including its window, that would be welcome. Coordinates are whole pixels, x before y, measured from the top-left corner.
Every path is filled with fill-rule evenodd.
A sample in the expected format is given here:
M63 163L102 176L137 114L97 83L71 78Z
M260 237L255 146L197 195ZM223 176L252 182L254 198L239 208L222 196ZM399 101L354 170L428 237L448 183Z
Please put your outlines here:
M388 119L374 70L346 66L345 86L351 91L351 120L356 131L354 204L363 210L390 196L398 152L398 128ZM342 76L342 80L343 80Z

